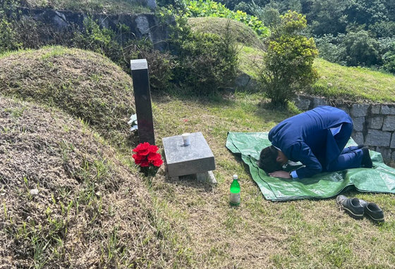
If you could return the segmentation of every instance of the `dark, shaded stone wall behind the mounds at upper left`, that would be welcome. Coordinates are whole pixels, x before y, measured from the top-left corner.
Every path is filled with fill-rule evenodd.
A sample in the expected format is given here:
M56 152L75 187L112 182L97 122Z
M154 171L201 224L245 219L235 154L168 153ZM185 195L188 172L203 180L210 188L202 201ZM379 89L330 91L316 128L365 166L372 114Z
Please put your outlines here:
M54 27L56 30L73 30L75 27L83 27L84 19L87 18L86 13L74 11L56 11L53 9L31 9L20 8L20 13L24 17L30 17L42 23L46 23ZM120 23L130 28L130 32L137 39L148 38L154 44L155 49L165 49L165 40L169 38L169 25L174 23L174 18L166 23L159 21L154 13L139 14L117 14L109 15L104 13L90 14L90 17L99 22L102 27L112 30L117 29Z

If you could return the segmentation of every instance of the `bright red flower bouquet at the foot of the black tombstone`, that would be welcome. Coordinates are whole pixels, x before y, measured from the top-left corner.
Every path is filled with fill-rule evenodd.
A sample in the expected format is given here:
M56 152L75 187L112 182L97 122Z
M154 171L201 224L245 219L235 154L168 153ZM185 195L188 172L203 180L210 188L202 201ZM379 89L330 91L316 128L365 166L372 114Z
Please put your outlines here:
M133 158L135 159L135 164L139 165L142 172L145 175L154 175L157 173L158 168L162 165L162 156L157 153L158 147L151 145L148 142L138 144L138 146L133 149Z

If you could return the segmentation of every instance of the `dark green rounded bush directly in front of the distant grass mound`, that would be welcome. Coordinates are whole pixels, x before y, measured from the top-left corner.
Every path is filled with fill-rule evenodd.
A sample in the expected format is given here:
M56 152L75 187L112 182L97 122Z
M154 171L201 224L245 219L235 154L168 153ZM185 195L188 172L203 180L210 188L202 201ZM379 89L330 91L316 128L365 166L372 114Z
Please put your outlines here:
M178 63L174 80L200 94L227 85L236 75L238 51L229 23L226 34L219 37L193 32L186 25L186 20L179 18L177 30L171 39L171 50L176 54Z

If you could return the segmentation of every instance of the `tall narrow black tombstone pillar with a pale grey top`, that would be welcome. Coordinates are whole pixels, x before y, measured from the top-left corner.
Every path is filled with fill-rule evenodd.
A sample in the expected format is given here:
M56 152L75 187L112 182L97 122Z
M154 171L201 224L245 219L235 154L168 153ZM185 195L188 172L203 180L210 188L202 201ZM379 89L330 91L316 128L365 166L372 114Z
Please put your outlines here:
M154 121L152 120L150 78L148 77L147 60L131 60L130 68L132 70L133 89L135 93L138 137L140 143L148 142L154 145Z

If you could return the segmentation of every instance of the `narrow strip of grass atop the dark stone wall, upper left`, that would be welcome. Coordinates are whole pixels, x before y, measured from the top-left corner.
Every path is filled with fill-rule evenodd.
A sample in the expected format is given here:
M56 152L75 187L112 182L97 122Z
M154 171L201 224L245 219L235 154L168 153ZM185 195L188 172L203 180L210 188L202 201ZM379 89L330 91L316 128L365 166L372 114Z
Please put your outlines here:
M128 0L24 0L23 4L30 8L54 8L68 11L83 11L96 13L141 13L150 9L138 4L138 1Z

